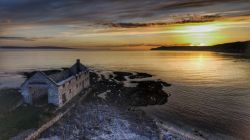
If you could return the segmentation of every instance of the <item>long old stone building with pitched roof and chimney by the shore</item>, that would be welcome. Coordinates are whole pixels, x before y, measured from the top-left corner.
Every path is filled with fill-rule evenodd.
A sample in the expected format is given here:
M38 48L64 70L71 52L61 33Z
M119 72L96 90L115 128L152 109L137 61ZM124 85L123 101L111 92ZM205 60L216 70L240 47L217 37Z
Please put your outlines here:
M28 104L46 98L48 103L61 107L89 86L89 70L77 59L69 69L55 74L36 72L21 85L21 94Z

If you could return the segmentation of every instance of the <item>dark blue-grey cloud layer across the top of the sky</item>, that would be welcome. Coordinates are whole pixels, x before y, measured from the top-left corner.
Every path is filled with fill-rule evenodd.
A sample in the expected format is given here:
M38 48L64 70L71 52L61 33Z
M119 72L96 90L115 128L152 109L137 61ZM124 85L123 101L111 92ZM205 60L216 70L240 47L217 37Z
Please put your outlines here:
M150 22L172 15L172 10L174 14L192 13L197 12L190 9L193 7L203 11L203 7L224 4L221 9L211 9L223 12L236 6L244 8L244 2L249 4L248 0L3 0L0 25Z

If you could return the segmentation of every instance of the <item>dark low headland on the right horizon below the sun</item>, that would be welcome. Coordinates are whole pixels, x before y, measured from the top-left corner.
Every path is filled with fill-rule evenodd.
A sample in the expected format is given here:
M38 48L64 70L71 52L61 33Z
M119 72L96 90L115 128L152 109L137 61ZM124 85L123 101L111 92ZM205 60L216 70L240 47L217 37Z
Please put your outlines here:
M225 53L238 53L250 56L250 41L232 42L225 44L218 44L214 46L161 46L152 48L150 50L156 51L213 51Z

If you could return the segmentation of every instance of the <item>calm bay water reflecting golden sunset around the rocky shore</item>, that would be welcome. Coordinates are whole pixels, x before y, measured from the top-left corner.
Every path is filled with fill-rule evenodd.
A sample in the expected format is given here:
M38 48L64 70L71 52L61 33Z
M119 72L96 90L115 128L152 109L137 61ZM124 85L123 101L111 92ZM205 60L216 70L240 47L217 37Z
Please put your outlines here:
M171 83L167 104L144 109L175 129L182 128L185 133L199 130L210 139L229 138L220 137L223 135L250 139L250 60L237 56L166 51L1 51L0 87L23 82L17 72L67 67L77 58L90 67L146 72Z

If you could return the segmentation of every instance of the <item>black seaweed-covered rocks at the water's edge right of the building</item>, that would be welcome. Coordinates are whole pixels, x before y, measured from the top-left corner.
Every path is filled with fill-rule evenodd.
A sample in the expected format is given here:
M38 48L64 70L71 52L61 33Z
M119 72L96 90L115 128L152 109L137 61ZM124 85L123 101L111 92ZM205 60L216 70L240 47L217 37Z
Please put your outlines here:
M93 75L93 81L98 79L96 77L98 74ZM151 79L152 75L146 73L114 72L114 75L113 78L101 78L100 81L93 82L96 83L93 86L94 91L97 94L105 94L104 100L125 106L162 105L167 102L169 94L165 93L163 88L170 86L170 84L153 78ZM101 76L99 74L99 78ZM125 87L123 85L124 82L137 86Z

